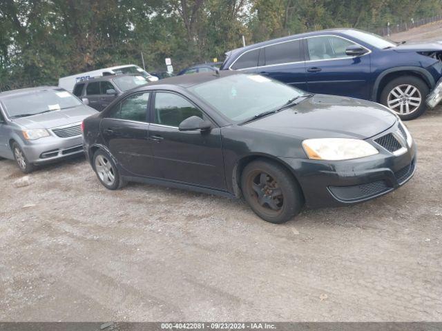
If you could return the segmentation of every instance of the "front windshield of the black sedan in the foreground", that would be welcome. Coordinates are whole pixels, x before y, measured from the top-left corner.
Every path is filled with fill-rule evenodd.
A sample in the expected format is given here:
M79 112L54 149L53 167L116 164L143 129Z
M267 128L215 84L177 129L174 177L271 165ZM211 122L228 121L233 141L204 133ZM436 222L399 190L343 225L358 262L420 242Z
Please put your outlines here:
M189 88L235 122L281 108L305 92L258 74L233 74Z

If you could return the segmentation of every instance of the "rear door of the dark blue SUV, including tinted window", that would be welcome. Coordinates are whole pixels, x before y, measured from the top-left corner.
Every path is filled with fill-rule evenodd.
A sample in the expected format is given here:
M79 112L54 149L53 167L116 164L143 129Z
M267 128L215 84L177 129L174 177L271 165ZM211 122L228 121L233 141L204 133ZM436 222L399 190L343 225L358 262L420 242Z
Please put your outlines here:
M284 41L260 49L259 74L307 90L302 40Z

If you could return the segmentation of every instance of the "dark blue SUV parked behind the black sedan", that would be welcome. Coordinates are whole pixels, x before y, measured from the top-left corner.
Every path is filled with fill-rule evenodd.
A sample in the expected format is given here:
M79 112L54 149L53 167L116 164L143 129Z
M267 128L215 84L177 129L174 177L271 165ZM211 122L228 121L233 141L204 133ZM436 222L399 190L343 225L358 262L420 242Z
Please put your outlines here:
M334 29L226 55L222 70L256 72L312 93L376 101L404 120L442 99L442 43L394 43L361 30Z

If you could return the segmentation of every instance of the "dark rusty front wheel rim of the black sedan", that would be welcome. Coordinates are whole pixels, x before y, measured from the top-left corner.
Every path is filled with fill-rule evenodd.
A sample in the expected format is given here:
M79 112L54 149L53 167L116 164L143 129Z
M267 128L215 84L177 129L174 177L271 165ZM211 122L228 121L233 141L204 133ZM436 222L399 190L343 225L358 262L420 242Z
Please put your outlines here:
M253 192L253 201L266 212L278 214L284 205L284 195L278 182L269 174L256 171L249 177L249 187Z

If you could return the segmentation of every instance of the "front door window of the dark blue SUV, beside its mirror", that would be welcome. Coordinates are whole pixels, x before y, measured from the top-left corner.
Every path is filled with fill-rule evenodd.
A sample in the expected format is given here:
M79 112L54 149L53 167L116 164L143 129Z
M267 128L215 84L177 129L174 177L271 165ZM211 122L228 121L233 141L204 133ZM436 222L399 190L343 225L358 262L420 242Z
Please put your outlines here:
M327 60L350 57L345 54L345 50L348 46L355 45L355 43L340 37L325 36L307 38L307 45L311 60Z

